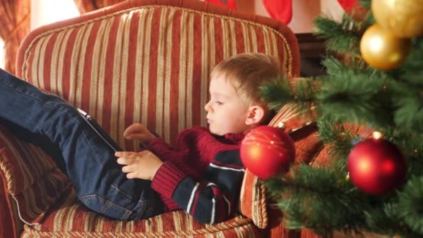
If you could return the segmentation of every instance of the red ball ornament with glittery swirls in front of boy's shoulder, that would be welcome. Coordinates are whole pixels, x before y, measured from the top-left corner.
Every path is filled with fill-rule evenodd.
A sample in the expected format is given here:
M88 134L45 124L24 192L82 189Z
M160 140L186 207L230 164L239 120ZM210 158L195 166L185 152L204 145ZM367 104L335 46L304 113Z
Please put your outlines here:
M251 173L266 180L289 170L295 159L294 141L282 129L255 127L241 142L240 155Z

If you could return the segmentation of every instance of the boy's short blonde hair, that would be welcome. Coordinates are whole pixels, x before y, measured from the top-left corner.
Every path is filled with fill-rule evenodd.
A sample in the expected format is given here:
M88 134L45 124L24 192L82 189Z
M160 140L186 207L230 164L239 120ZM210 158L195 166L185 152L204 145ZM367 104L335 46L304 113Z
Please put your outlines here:
M222 74L231 82L247 106L257 103L264 107L262 122L271 120L274 111L267 108L260 95L260 86L280 77L278 58L261 53L237 54L218 63L212 70L211 77L214 79Z

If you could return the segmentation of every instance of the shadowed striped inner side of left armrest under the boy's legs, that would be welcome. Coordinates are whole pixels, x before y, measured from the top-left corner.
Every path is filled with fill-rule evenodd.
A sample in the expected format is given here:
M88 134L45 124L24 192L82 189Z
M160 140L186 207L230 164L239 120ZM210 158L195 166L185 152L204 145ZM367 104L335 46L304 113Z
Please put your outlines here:
M56 202L76 198L67 177L44 151L15 138L1 125L0 169L25 223L38 223Z

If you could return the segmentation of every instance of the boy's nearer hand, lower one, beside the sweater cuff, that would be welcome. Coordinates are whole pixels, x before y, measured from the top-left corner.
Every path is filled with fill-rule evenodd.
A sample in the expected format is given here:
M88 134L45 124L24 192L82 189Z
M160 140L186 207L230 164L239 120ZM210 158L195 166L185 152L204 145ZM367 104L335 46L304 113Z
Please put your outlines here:
M127 173L127 178L139 178L142 180L152 180L157 170L163 162L149 150L141 152L115 152L118 158L118 164L125 165L122 172Z

